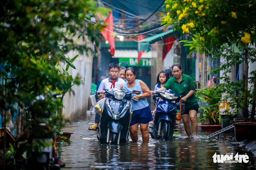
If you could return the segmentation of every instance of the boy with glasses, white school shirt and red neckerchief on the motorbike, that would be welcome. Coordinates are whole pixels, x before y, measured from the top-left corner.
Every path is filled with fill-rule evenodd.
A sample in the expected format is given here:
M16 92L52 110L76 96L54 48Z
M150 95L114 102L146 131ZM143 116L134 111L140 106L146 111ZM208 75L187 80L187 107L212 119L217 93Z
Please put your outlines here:
M97 91L97 95L99 100L102 99L102 96L99 96L99 94L104 94L105 89L113 89L115 87L119 87L121 84L123 84L125 81L123 79L120 79L118 77L120 66L116 62L113 62L109 64L108 73L109 77L102 80L100 83L99 89ZM100 115L99 113L96 113L95 115L95 123L91 125L88 130L97 130L99 126L100 121Z

